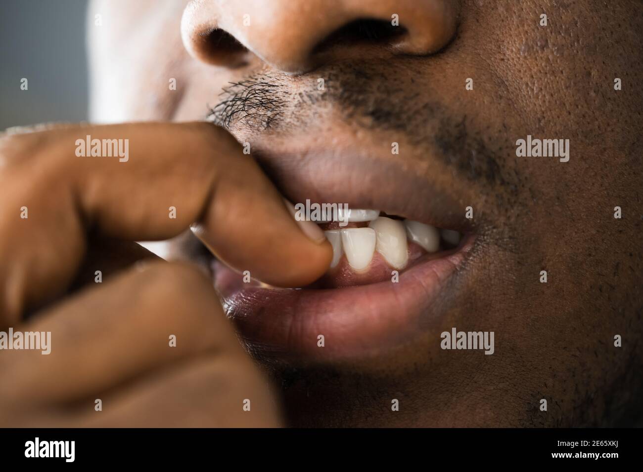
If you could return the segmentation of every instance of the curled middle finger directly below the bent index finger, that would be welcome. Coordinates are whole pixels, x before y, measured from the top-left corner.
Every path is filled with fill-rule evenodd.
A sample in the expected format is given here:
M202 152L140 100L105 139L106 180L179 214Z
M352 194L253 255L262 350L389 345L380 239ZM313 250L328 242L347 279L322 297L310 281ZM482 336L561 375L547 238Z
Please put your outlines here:
M1 351L8 381L0 382L0 399L34 407L69 402L195 354L246 356L206 275L186 263L146 265L15 328L51 333L50 353Z

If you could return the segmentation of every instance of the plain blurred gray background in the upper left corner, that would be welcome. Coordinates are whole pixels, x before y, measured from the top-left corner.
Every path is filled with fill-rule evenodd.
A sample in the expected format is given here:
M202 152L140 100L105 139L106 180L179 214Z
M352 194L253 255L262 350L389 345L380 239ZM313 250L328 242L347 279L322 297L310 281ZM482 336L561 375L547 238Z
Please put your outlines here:
M86 6L0 0L0 130L87 119Z

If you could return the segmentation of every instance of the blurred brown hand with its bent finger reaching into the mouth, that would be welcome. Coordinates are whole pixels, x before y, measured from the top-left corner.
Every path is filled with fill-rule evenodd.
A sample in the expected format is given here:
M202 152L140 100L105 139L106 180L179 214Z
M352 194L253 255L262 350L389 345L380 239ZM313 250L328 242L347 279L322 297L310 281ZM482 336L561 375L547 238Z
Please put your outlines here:
M129 139L129 159L78 157L86 135ZM269 385L198 268L111 267L103 283L66 295L87 249L96 252L90 232L104 256L115 257L104 238L116 238L109 250L129 247L131 262L140 254L126 241L170 238L193 223L217 257L275 285L310 283L332 257L212 125L57 127L0 138L0 330L51 332L50 354L0 350L1 426L280 424Z

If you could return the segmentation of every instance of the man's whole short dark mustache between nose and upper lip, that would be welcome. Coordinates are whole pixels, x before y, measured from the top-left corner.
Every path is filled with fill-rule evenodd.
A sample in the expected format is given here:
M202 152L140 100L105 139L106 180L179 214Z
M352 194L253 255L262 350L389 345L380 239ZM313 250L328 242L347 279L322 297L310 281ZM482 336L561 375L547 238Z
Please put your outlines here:
M430 76L421 64L409 61L399 67L344 62L305 76L264 69L224 87L217 103L208 107L206 120L231 132L260 134L303 129L324 109L338 110L338 119L347 126L385 132L392 141L403 138L417 149L437 150L442 164L460 176L517 197L520 176L503 157L511 153L509 141L503 142L506 131L480 131L485 127L443 103L438 92L427 87ZM320 78L323 90L318 89Z

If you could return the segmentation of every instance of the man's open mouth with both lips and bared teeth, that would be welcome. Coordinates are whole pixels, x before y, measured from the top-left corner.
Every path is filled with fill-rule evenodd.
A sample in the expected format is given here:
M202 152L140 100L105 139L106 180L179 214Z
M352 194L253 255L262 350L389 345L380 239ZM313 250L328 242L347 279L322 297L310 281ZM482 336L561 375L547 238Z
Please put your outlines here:
M476 238L453 186L436 175L430 185L417 170L376 154L342 155L258 157L291 202L349 205L348 224L320 223L333 247L323 277L305 287L275 288L212 261L226 315L248 351L262 360L377 356L426 337L457 295Z

